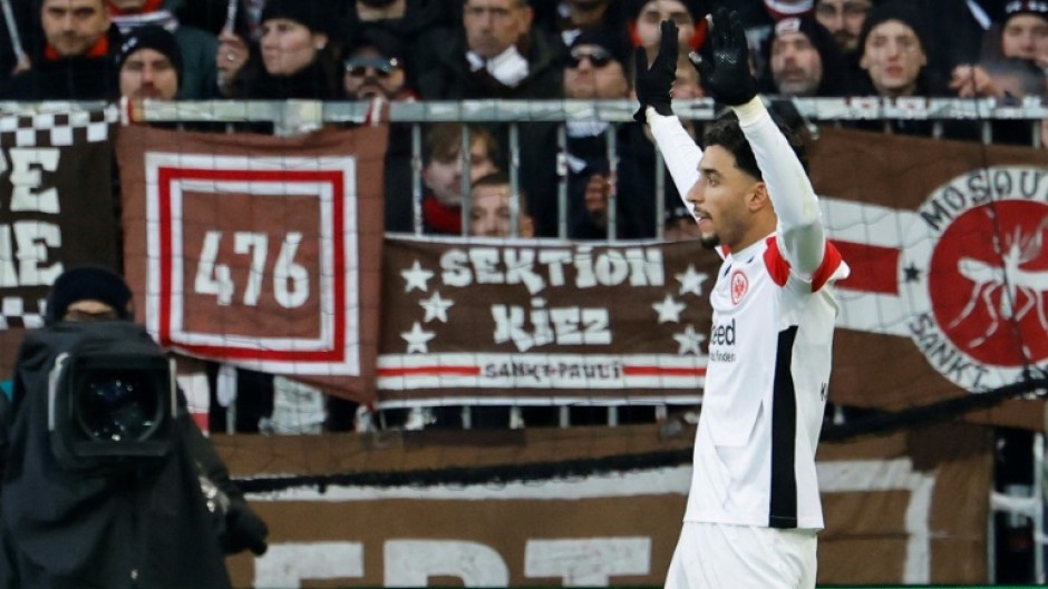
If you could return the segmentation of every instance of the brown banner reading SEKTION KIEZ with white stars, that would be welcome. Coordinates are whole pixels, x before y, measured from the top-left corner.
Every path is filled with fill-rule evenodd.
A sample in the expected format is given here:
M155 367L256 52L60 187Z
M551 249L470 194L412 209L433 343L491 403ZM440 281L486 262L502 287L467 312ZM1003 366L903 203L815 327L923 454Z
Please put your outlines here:
M384 406L693 403L719 261L698 243L389 238Z

